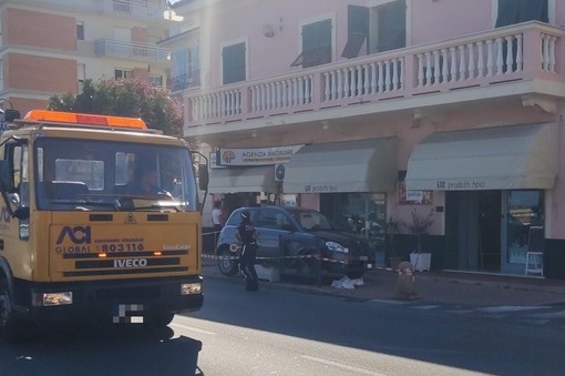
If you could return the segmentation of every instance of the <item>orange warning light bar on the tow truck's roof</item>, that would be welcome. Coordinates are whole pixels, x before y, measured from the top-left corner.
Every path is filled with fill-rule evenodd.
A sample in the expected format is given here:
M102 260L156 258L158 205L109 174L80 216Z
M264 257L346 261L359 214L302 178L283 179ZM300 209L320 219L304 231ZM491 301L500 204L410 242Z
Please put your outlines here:
M146 130L145 122L135 118L93 115L90 113L73 113L61 111L31 110L24 120L45 121L54 123L107 125Z

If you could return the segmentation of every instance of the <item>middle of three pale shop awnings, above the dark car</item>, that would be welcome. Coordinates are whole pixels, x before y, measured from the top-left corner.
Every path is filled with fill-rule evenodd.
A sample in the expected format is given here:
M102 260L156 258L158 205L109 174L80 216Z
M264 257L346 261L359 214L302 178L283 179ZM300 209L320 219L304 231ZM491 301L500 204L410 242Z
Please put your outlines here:
M397 161L397 138L306 145L286 165L284 192L392 191Z

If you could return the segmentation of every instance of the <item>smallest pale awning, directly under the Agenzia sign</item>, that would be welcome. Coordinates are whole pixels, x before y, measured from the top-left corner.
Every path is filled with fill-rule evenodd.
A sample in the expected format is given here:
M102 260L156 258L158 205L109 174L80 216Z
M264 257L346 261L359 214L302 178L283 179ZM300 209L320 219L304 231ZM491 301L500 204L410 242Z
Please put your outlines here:
M277 193L275 166L212 169L209 193L268 192Z

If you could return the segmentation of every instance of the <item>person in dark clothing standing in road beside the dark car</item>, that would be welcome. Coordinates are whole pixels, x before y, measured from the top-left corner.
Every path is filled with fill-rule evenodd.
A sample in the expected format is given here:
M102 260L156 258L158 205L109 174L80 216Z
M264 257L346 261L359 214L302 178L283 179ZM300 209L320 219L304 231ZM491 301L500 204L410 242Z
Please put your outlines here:
M239 256L239 268L245 277L246 291L258 291L259 283L255 271L255 257L257 254L257 231L251 223L248 211L242 212L242 223L235 233L237 241L242 244Z

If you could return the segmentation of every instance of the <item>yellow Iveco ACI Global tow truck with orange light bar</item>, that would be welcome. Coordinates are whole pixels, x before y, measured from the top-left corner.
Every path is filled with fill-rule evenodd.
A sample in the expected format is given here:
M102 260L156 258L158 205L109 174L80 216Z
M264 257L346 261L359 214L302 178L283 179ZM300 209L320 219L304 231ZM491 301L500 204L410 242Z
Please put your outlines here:
M0 335L79 321L165 326L203 305L187 143L141 119L7 110L0 136ZM204 169L198 169L203 167ZM148 177L147 177L148 176Z

